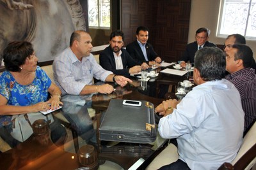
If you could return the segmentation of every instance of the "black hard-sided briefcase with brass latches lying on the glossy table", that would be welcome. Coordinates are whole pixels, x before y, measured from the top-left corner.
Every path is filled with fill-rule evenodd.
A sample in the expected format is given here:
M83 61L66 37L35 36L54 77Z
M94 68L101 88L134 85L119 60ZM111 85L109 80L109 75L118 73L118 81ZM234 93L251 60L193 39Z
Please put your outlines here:
M111 99L100 124L100 140L129 143L151 143L157 130L154 105L141 101L141 106L126 106L122 99Z

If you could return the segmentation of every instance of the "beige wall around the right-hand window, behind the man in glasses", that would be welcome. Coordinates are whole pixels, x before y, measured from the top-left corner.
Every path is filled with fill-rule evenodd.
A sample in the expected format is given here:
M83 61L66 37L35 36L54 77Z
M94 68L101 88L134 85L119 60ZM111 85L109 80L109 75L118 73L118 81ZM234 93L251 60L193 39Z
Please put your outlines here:
M192 0L189 24L188 43L195 41L196 29L207 27L211 30L209 41L215 44L224 44L225 38L216 37L218 14L221 0ZM256 41L247 40L246 44L253 50L256 60Z

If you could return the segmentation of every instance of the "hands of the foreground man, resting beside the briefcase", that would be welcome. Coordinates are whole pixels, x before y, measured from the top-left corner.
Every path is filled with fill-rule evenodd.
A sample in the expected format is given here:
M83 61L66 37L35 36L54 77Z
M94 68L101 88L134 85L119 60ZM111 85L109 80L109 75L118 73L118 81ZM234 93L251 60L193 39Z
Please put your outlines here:
M177 104L179 104L180 101L177 101L176 99L169 99L166 101L163 101L161 104L159 104L156 108L155 108L155 112L159 113L159 115L163 115L164 117L166 117L167 115L170 115L172 113L173 110L169 111L167 110L167 108L177 108Z

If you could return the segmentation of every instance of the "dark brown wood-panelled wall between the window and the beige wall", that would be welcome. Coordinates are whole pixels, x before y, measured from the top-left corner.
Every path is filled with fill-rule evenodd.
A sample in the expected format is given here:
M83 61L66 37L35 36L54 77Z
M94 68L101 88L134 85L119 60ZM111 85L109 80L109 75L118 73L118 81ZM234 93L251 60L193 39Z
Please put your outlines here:
M191 0L122 0L121 29L125 45L136 39L136 28L150 29L148 42L164 60L176 62L188 42Z

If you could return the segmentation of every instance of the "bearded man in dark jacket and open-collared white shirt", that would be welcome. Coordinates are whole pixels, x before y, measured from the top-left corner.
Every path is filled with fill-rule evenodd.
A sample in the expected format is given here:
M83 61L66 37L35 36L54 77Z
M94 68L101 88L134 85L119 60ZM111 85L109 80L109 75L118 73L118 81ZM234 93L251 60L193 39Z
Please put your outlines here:
M130 74L139 73L141 68L148 68L147 63L140 64L134 60L122 46L124 46L124 32L113 31L110 35L109 46L100 53L100 66L123 76L130 76Z

